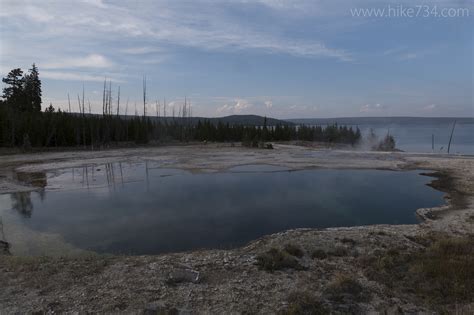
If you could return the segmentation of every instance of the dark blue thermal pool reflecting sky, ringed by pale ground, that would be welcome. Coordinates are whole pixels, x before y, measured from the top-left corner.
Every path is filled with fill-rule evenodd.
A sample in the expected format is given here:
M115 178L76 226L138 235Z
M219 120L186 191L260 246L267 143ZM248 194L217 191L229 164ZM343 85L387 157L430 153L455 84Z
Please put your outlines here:
M18 174L42 190L0 196L0 216L3 225L58 235L101 253L232 248L294 228L416 223L416 209L443 203L443 193L426 185L432 178L419 173L272 165L191 173L148 162L90 165ZM43 246L11 243L22 254Z

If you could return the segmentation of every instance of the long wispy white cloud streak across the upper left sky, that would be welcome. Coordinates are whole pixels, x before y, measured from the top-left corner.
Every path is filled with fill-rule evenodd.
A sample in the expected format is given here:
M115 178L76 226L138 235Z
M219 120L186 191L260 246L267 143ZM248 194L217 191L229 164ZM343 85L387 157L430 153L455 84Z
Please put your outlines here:
M264 1L270 8L287 7L291 3ZM260 24L247 23L236 18L235 12L243 6L252 8L254 3L216 3L214 1L139 1L138 4L87 0L75 4L74 9L59 2L48 3L48 14L27 16L20 5L8 5L2 16L5 24L22 22L29 34L36 38L45 37L87 37L107 41L123 41L125 38L153 43L153 47L122 49L124 54L145 54L157 52L155 45L175 45L202 50L258 50L261 53L281 53L299 57L329 57L351 60L350 53L341 48L328 46L314 37L295 39L281 32L268 31ZM40 12L35 2L29 6L31 12ZM265 12L261 12L265 13ZM36 13L37 14L37 13ZM268 12L266 13L268 14ZM283 13L280 13L283 14ZM54 17L54 18L53 18ZM282 16L283 18L283 16ZM47 22L41 31L27 22ZM275 21L277 22L277 21ZM2 21L3 23L3 21ZM33 30L33 31L32 31ZM93 32L91 32L93 30Z

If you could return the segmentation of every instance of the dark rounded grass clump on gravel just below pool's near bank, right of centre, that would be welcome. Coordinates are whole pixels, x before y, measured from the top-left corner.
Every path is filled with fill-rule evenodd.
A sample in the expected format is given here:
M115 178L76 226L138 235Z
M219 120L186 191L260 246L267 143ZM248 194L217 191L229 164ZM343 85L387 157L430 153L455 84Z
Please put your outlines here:
M294 256L274 247L257 256L257 266L269 272L281 269L304 269Z

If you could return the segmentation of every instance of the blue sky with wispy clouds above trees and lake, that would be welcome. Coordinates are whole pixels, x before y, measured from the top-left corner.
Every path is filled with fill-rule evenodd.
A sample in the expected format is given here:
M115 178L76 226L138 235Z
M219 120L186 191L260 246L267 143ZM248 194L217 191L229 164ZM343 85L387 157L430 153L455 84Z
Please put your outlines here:
M0 21L0 74L36 63L43 107L84 87L101 113L106 78L133 114L146 76L150 115L474 117L473 1L0 0Z

